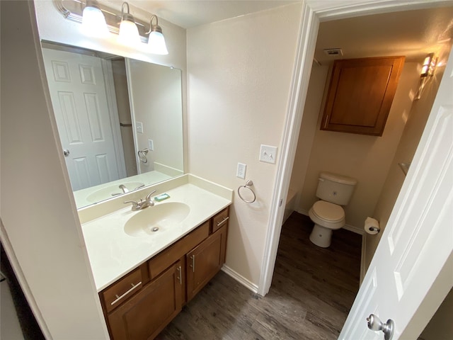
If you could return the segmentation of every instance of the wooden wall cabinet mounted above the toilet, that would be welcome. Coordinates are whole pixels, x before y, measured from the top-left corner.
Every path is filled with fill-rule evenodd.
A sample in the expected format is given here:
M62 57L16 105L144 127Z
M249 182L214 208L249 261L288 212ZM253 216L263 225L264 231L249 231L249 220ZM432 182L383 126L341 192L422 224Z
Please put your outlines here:
M321 130L382 136L404 59L336 60Z

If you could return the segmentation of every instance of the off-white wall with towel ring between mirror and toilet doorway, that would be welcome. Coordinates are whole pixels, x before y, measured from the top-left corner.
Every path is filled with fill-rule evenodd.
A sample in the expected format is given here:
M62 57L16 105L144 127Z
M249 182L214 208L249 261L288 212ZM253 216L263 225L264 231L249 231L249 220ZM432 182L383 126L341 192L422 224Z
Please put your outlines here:
M190 172L229 188L247 164L257 200L235 192L226 266L257 285L263 264L275 164L258 161L260 144L280 147L302 6L294 4L190 28Z

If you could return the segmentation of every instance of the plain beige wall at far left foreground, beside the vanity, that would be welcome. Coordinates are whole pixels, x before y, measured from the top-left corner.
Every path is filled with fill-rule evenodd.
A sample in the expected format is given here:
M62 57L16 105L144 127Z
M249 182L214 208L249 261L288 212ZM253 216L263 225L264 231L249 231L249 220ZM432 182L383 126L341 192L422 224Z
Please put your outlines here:
M0 1L0 5L1 241L46 336L106 339L43 84L33 3Z

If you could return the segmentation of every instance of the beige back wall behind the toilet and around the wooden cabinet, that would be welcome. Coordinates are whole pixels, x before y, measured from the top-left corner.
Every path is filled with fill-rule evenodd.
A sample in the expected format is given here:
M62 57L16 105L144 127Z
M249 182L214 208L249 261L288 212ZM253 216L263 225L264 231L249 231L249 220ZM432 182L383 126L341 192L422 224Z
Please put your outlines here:
M366 217L373 216L394 159L418 88L419 74L417 63L404 64L382 137L319 130L323 105L319 106L319 96L307 96L306 108L309 110L305 110L304 115L315 115L318 123L302 190L298 188L301 192L299 211L307 213L317 200L315 193L320 171L349 176L357 179L357 186L350 203L345 207L346 224L359 230L363 228ZM312 77L320 76L313 73ZM311 105L311 102L318 103L318 106ZM306 133L306 129L302 125L302 135ZM299 145L300 147L303 146ZM295 164L306 162L306 150L298 149L297 154L301 159L296 160ZM294 176L293 174L293 179Z

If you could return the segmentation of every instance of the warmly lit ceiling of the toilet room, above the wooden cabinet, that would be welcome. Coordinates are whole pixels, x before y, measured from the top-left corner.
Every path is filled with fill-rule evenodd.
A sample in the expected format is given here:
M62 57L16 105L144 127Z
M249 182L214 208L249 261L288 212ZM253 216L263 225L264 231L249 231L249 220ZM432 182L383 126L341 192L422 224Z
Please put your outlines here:
M430 52L449 51L452 37L453 6L326 21L319 26L315 58L328 64L339 58L323 50L340 47L342 59L405 55L406 61L423 62Z

